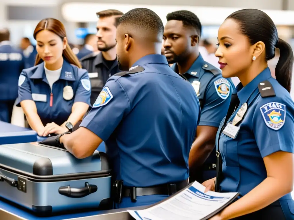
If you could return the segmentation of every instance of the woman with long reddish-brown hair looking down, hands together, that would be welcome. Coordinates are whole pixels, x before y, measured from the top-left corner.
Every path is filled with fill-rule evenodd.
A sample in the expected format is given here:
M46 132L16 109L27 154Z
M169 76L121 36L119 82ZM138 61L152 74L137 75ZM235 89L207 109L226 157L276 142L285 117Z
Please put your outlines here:
M43 19L34 38L38 54L35 66L19 77L18 105L39 136L61 134L80 121L90 106L88 72L81 69L60 21Z

